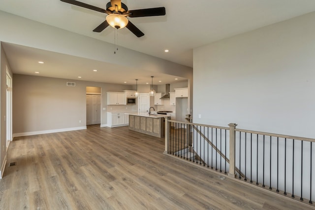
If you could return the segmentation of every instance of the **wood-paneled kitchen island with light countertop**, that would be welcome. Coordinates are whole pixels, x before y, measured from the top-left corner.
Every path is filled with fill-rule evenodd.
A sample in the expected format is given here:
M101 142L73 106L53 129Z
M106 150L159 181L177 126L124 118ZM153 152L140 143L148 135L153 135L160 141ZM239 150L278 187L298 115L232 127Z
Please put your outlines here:
M164 114L148 114L139 112L125 113L129 115L129 130L164 137Z

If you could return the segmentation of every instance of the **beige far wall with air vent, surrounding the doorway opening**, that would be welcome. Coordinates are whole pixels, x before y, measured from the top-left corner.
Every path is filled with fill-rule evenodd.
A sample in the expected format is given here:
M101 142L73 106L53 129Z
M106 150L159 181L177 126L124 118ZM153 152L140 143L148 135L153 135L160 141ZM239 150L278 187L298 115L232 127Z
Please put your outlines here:
M107 124L108 91L123 92L130 85L13 75L13 134L15 136L86 126L86 87L101 88L101 124ZM66 82L75 82L75 87ZM106 110L103 110L103 107ZM117 106L127 110L128 105ZM81 123L80 123L81 120Z

